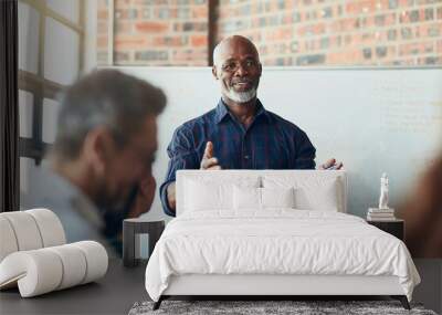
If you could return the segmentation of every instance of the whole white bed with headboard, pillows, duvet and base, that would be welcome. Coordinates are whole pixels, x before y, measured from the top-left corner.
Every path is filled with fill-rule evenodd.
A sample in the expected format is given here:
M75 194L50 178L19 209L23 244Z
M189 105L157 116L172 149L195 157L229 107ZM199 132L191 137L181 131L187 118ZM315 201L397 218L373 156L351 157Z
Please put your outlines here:
M406 245L346 214L346 200L344 171L178 171L146 290L156 307L171 295L391 295L409 307L420 277Z

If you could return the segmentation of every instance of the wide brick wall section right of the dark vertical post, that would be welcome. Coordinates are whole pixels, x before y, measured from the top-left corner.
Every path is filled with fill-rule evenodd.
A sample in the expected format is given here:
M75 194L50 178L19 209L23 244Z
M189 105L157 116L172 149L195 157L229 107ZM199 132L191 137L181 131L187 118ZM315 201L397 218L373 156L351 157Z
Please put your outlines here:
M221 0L218 36L235 33L266 65L442 64L442 1Z

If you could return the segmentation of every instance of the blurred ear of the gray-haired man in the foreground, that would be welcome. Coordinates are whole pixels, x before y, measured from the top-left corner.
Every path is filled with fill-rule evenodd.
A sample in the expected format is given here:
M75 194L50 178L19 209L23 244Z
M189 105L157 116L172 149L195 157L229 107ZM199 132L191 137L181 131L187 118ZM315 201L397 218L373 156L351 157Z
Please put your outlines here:
M113 151L114 140L108 129L95 128L87 133L83 143L83 155L98 176L106 171L106 164Z

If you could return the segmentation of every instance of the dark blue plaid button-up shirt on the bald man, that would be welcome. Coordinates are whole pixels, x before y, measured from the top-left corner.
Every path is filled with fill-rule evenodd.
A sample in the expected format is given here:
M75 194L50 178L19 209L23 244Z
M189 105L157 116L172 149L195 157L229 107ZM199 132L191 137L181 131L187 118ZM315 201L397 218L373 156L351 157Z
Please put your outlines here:
M204 115L191 119L175 133L167 153L169 167L160 197L166 214L167 187L179 169L199 169L207 141L213 143L213 156L223 169L314 169L316 149L296 125L265 111L256 101L257 111L245 128L229 112L222 99Z

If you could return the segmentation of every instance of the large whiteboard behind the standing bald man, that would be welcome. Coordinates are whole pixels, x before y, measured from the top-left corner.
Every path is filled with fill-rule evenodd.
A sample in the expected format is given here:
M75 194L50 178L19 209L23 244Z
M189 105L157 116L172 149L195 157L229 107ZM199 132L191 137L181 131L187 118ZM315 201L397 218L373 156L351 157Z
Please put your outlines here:
M173 130L212 109L220 98L210 67L116 67L164 88L154 176L162 183ZM330 157L348 172L348 212L376 207L382 171L390 207L413 188L442 149L442 69L264 67L257 92L264 107L293 122L316 147L317 165ZM162 217L157 193L147 217Z

